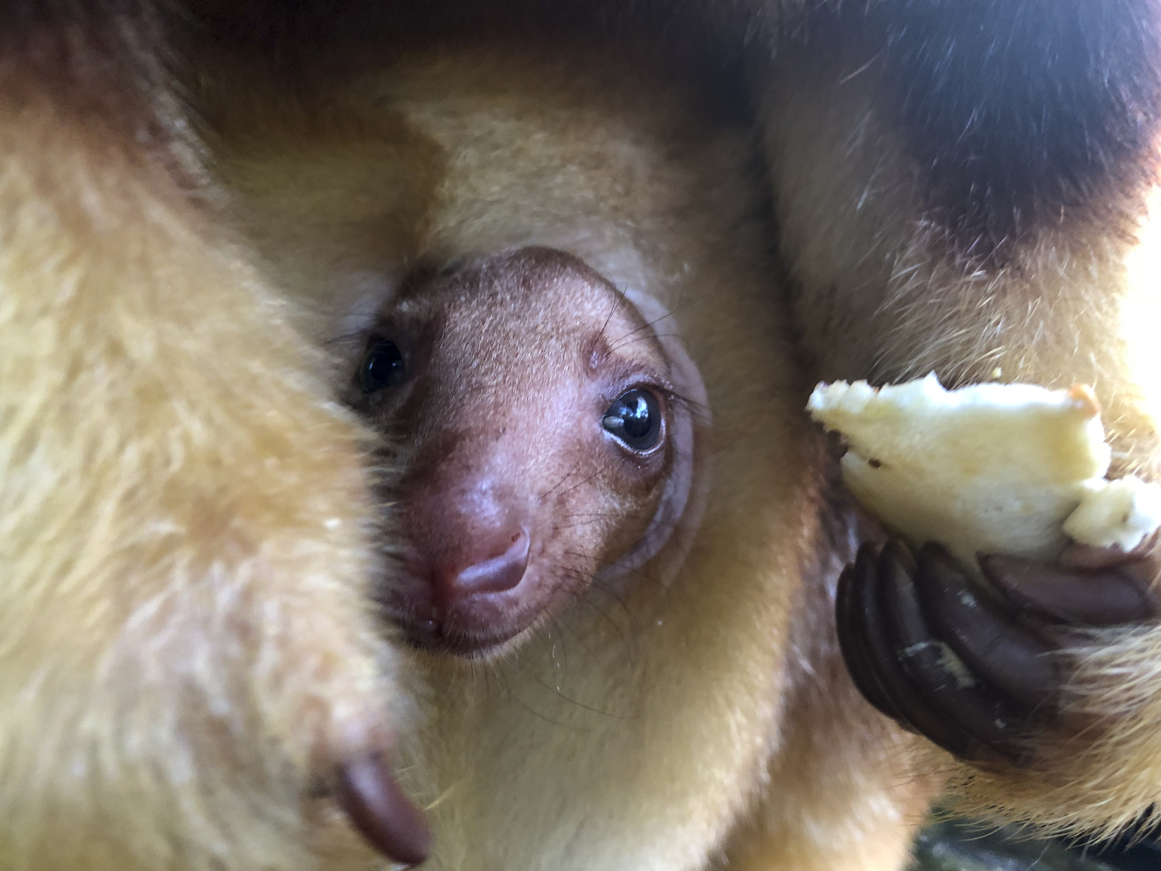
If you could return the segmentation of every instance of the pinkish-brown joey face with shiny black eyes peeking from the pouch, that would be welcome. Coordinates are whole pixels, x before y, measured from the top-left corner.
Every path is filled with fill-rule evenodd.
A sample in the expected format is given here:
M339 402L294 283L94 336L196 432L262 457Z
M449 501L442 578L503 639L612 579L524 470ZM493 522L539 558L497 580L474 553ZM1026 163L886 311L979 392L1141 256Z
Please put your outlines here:
M402 571L381 598L418 646L498 653L594 577L659 554L663 571L695 524L700 377L563 252L411 281L377 314L349 397L396 451Z

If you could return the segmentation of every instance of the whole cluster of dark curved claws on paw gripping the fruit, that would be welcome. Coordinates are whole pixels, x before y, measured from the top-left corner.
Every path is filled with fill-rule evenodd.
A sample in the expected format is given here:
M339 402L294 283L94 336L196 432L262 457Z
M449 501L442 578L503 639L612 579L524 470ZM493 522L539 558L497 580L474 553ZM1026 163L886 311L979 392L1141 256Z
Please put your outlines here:
M1076 628L1161 614L1152 560L1073 548L1059 563L980 560L980 583L938 545L917 557L864 545L838 581L843 658L867 700L906 728L980 764L1021 764L1037 735L1069 727L1067 662Z

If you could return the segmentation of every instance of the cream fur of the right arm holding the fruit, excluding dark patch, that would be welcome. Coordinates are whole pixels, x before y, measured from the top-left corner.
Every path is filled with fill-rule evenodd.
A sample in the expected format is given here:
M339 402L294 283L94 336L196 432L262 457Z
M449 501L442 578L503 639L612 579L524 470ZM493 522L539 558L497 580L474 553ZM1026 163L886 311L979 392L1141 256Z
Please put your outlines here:
M917 167L880 103L880 66L789 56L794 86L766 71L765 130L781 244L809 353L827 380L1093 384L1104 405L1113 474L1158 475L1156 192L1111 203L1099 223L1062 214L1003 268L951 253L922 219ZM1051 735L1029 768L957 768L968 809L1041 829L1113 830L1161 801L1161 631L1103 631L1070 686L1101 714L1075 737ZM926 753L924 766L946 757Z

